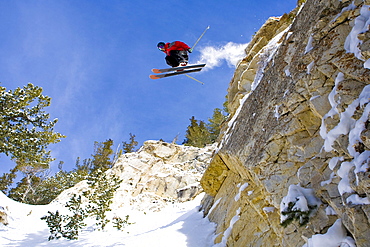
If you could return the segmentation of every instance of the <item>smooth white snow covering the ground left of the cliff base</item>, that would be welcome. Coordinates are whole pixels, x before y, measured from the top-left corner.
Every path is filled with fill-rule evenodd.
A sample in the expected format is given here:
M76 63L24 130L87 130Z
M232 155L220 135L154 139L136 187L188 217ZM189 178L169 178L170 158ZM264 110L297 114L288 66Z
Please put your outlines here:
M48 241L49 229L40 217L47 211L55 212L60 204L27 205L15 202L0 193L0 204L8 213L9 224L0 224L1 246L160 246L160 247L210 247L215 238L215 224L199 212L200 200L185 203L169 203L160 212L128 211L124 208L112 211L123 218L129 215L129 222L122 231L107 227L104 231L93 231L88 225L78 240ZM215 203L217 204L217 202ZM62 208L63 210L63 208ZM123 217L122 217L123 216ZM235 223L235 219L234 219ZM219 246L219 245L218 245Z

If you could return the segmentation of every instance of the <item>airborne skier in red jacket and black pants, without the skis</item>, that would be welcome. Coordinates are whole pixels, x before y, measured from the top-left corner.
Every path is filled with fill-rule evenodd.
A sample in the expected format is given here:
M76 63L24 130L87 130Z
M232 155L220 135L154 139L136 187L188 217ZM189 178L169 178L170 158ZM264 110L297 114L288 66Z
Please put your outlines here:
M189 59L188 52L193 51L190 46L181 41L159 42L157 47L160 51L166 53L166 63L171 67L186 66Z

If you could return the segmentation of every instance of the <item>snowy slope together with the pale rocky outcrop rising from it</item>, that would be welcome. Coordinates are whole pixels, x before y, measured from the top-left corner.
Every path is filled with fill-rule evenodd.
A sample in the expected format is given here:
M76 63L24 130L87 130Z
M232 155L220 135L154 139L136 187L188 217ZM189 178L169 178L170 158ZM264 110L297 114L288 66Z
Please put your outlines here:
M197 181L214 148L147 141L138 152L122 155L107 171L123 180L107 218L129 215L128 221L134 224L121 231L108 224L98 231L95 221L87 219L78 240L48 241L49 228L40 218L48 211L68 214L65 203L88 188L86 181L42 206L22 204L0 192L0 212L8 216L7 225L0 223L0 246L212 246L215 225L203 218L198 206L204 193L196 189L199 195L190 200L191 193L180 193L179 198L177 192L200 186Z

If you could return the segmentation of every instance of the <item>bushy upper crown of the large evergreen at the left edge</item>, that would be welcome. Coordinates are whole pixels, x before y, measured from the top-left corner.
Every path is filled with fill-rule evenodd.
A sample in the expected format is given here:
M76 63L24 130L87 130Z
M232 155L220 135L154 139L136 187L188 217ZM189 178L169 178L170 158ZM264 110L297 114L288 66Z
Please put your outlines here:
M31 166L47 166L53 159L46 148L64 136L54 132L57 119L49 121L43 108L51 98L29 83L6 91L0 86L0 152Z

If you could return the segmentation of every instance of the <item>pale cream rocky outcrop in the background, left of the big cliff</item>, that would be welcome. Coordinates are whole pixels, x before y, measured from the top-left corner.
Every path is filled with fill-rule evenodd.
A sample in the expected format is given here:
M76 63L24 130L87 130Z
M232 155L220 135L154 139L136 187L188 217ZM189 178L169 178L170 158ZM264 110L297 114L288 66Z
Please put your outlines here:
M199 182L214 149L146 141L139 151L122 155L107 171L122 179L111 208L159 211L168 203L193 199L203 192ZM64 204L72 194L87 188L82 181L55 201Z

